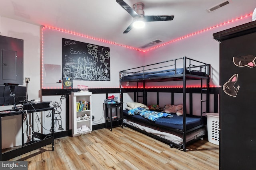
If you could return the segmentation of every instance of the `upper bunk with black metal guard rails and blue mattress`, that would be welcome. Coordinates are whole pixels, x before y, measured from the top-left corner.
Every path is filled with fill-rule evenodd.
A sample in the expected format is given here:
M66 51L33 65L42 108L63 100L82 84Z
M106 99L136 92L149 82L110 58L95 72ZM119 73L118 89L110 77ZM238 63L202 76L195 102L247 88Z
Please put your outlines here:
M186 62L184 62L184 60L186 60ZM184 72L184 70L186 71ZM210 64L183 57L122 70L120 71L120 80L122 82L175 81L182 80L184 74L186 74L188 80L200 78L208 79L209 72Z

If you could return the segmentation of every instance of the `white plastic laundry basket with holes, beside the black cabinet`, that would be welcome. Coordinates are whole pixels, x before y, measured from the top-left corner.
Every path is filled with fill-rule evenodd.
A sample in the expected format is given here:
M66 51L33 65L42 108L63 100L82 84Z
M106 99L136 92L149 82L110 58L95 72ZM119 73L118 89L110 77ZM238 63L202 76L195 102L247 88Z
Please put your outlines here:
M206 113L207 117L207 133L208 141L215 145L219 145L220 141L220 114L219 113Z

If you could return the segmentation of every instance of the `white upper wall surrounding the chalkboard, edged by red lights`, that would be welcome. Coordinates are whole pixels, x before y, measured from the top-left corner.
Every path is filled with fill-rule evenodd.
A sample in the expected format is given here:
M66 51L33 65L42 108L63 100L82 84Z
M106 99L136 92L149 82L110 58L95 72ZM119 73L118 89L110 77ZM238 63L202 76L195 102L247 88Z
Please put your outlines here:
M77 88L77 85L85 85L88 86L88 88L119 88L119 71L135 66L140 66L144 63L144 53L120 47L117 45L112 45L110 43L104 43L93 39L81 37L78 35L73 35L62 31L56 31L49 28L43 29L43 36L44 64L62 65L62 38L110 48L110 81L74 80L73 88ZM60 76L62 76L62 74ZM44 84L44 87L62 88L62 84L47 83Z

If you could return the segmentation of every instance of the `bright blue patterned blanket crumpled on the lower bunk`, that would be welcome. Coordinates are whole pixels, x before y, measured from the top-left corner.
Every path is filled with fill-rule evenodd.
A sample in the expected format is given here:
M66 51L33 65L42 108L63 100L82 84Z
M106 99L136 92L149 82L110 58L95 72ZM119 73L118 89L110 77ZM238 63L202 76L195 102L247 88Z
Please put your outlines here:
M144 109L141 107L131 109L128 111L128 115L135 115L135 114L141 115L142 117L149 119L151 121L156 121L156 119L159 119L161 117L173 117L173 115L169 113L152 111L152 110Z

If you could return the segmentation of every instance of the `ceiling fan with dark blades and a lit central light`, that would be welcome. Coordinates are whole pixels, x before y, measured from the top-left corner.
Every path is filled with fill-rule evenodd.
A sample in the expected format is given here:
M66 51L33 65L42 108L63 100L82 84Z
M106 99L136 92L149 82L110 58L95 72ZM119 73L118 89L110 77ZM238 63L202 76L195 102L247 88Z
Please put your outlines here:
M116 2L134 18L134 21L126 28L123 33L128 33L137 21L143 24L144 22L151 21L171 21L174 18L174 16L145 16L143 10L144 4L142 2L133 4L133 9L123 0L116 0Z

